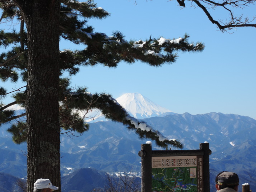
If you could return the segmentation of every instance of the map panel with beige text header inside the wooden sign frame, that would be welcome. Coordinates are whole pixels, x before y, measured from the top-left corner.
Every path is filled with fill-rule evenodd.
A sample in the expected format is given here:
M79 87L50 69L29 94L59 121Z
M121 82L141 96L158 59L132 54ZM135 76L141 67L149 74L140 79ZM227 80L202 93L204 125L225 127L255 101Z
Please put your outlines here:
M152 192L198 192L196 156L152 157Z

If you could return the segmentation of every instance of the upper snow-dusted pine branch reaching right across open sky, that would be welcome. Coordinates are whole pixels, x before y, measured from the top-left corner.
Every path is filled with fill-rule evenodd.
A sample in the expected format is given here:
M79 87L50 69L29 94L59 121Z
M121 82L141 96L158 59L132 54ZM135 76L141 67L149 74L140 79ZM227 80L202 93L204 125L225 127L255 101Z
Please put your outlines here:
M66 29L62 26L63 29ZM174 51L202 51L204 45L189 44L184 38L178 39L152 39L137 42L127 42L120 32L108 37L104 33L87 33L83 30L71 31L73 37L80 39L87 45L87 49L81 51L84 61L94 65L102 63L108 67L117 67L120 61L134 63L137 60L146 62L151 66L161 66L163 63L175 62L177 54ZM165 54L162 54L165 53Z

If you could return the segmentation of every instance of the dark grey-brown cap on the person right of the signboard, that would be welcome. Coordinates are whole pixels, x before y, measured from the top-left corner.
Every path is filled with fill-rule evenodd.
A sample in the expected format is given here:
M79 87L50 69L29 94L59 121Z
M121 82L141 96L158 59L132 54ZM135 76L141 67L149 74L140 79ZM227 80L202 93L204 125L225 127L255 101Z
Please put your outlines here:
M223 172L218 176L218 184L220 186L235 186L239 184L239 178L236 173Z

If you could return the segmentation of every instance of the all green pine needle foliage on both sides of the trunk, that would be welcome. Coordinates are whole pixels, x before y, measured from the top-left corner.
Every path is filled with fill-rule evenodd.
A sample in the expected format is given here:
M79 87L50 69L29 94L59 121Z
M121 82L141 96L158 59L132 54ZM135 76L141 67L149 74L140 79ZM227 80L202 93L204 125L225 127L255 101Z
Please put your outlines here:
M6 32L0 31L0 47L9 48L0 54L0 79L2 82L24 82L24 87L8 92L8 89L0 87L0 126L22 115L15 116L14 110L6 110L7 107L19 104L25 107L26 83L28 80L28 38L24 17L16 6L15 1L2 0L0 7L3 10L1 21L19 22L20 31L14 29ZM149 138L156 141L161 147L172 145L182 148L179 141L161 140L158 131L150 128L150 131L140 129L144 122L132 121L122 106L109 94L87 92L86 87L72 88L70 77L63 77L64 72L70 76L76 75L81 66L94 66L103 64L108 67L117 67L122 61L129 64L141 61L150 66L161 66L165 63L176 61L177 52L200 52L202 43L189 43L188 35L179 39L152 38L147 40L127 41L121 32L114 32L111 37L104 33L94 32L93 27L87 25L90 18L104 19L110 14L102 8L98 8L93 0L86 2L61 0L60 12L60 38L70 40L75 44L84 44L83 50L60 50L59 76L59 111L62 133L76 131L84 133L89 125L84 123L86 114L92 109L100 109L106 118L127 125L134 130L139 138ZM66 74L66 73L65 73ZM3 85L3 84L2 84ZM4 104L5 96L13 94L11 104ZM81 111L84 115L81 115ZM38 114L39 115L39 114ZM136 122L135 124L133 122ZM149 126L148 126L149 127ZM18 120L8 129L13 134L15 143L26 141L26 123Z

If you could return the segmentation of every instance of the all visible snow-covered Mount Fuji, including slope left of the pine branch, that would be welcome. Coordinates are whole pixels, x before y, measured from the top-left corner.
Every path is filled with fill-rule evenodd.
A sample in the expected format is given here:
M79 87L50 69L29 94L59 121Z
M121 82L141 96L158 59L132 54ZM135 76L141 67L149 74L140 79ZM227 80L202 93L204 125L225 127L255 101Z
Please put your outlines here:
M175 114L175 112L155 104L153 101L140 93L125 93L116 100L128 112L129 115L135 117L136 119ZM93 117L87 120L87 122L90 123L106 121L105 117L98 110L91 112L89 116Z

